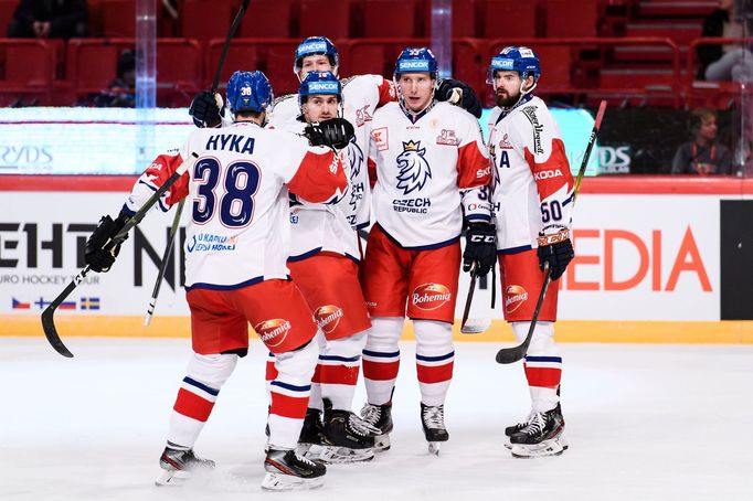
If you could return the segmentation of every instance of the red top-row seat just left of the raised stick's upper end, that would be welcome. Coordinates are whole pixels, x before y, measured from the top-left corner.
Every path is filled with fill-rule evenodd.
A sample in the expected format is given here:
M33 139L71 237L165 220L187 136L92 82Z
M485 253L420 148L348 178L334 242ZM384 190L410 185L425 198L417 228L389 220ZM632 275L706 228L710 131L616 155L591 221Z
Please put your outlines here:
M183 0L181 35L187 39L224 39L235 14L231 0Z

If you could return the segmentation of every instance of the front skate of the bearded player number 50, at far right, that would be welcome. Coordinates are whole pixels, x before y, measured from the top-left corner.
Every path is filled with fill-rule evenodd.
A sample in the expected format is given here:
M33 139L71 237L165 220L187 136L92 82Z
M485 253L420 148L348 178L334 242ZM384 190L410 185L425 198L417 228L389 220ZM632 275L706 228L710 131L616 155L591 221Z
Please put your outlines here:
M563 433L564 418L558 404L545 413L533 413L528 425L510 436L510 450L516 458L559 456L568 449Z

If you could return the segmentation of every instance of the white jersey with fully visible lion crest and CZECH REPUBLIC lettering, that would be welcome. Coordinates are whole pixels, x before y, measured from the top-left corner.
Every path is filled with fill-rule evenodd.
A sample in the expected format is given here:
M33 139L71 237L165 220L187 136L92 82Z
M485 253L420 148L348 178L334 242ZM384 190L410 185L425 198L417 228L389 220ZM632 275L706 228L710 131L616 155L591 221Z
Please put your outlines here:
M397 103L373 118L369 170L375 222L404 248L457 241L463 213L490 221L490 167L476 118L435 103L412 120Z

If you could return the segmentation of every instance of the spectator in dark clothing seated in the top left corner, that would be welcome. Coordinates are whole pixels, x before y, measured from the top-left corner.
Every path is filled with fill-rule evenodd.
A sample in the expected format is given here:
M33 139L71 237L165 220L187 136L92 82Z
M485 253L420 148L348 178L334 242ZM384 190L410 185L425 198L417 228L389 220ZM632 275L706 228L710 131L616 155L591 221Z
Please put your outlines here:
M21 0L8 24L9 38L72 39L87 31L86 0Z

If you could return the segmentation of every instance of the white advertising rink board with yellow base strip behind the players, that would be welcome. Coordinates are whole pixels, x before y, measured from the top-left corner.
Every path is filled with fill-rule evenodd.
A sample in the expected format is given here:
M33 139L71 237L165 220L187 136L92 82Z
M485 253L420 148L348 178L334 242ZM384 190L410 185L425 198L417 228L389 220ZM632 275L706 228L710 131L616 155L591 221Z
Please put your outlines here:
M0 177L0 334L42 334L41 311L84 266L86 237L100 214L119 211L134 179ZM730 280L723 279L721 258L722 207L750 202L751 191L741 180L587 179L573 215L577 257L560 280L558 339L753 342L753 322L722 315ZM171 221L171 213L151 213L124 244L113 270L89 275L74 290L56 313L62 335L188 335L180 243L155 321L148 330L141 327ZM462 274L457 318L467 289ZM538 290L526 294L535 300ZM485 334L458 332L456 339L512 340L500 298L495 311L489 302L484 281L471 317L492 319L494 327ZM410 326L405 334L411 337Z

